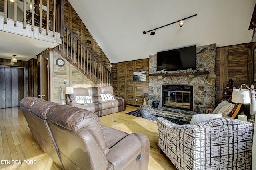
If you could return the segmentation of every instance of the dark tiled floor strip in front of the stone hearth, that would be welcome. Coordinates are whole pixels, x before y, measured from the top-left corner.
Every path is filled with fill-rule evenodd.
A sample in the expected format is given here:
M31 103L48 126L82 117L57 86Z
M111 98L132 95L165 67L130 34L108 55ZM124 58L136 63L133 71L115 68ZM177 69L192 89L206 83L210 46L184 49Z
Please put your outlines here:
M151 115L151 114L148 115L148 116L141 115L140 114L140 109L137 109L137 110L134 110L134 111L131 111L131 112L127 112L126 114L136 116L136 117L142 117L144 119L148 119L148 120L151 120L151 121L156 121L157 117L159 117L157 115ZM161 117L163 117L163 116L161 116ZM179 119L172 119L172 118L169 118L169 117L163 117L163 118L165 118L165 119L167 119L167 120L169 120L173 123L179 124L179 125L189 124L189 122L182 121L182 120L179 120Z

